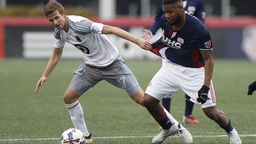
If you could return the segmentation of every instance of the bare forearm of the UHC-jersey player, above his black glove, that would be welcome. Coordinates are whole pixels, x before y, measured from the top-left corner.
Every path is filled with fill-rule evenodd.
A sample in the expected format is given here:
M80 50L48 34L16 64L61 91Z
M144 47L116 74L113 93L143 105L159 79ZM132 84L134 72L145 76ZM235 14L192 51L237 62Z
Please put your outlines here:
M204 58L204 85L209 87L213 75L213 50L200 50Z

